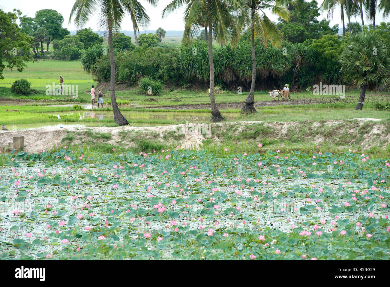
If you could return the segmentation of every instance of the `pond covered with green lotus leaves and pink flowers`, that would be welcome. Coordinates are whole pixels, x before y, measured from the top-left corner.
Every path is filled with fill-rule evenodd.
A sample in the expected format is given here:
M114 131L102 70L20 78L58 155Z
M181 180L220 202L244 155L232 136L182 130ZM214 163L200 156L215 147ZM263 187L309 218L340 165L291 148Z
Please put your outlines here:
M390 259L390 164L317 150L0 154L0 258Z

